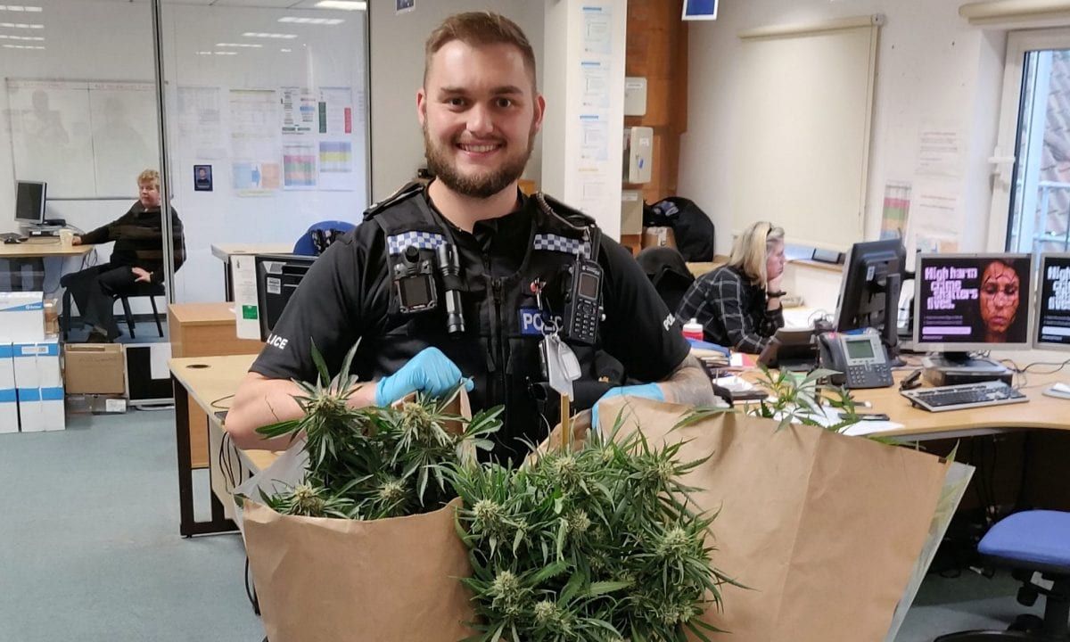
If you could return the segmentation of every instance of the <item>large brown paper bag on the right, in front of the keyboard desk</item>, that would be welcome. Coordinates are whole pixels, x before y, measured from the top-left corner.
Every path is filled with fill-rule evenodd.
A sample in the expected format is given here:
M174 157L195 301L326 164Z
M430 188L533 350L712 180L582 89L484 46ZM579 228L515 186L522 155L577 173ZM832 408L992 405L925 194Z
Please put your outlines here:
M671 431L687 412L639 398L602 403L621 434L652 445L688 441L685 461L709 456L684 483L712 525L714 564L749 590L725 586L723 612L703 618L734 642L880 642L929 532L945 479L941 460L810 426L721 413Z

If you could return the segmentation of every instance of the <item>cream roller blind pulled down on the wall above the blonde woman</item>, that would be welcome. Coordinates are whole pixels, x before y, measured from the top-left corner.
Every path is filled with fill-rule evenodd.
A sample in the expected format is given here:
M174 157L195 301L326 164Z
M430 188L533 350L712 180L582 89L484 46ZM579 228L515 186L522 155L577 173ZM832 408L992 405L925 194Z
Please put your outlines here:
M771 220L790 243L862 238L877 27L745 39L733 228Z

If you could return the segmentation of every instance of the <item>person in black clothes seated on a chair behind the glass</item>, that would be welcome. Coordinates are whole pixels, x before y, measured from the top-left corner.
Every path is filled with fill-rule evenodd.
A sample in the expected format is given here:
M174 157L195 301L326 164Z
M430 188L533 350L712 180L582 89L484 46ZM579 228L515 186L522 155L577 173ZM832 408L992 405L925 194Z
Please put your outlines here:
M138 201L118 220L74 238L75 245L114 241L107 263L68 274L60 285L71 290L83 323L92 324L91 342L110 342L119 336L112 296L129 292L136 284L164 280L164 219L159 207L159 172L147 169L137 178ZM185 260L182 221L171 208L174 269Z

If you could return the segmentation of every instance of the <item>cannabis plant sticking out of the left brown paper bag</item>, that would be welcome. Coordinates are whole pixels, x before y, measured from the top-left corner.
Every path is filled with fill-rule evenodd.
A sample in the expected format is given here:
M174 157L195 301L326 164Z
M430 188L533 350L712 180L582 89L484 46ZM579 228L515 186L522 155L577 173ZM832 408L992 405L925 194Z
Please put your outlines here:
M460 385L444 398L416 395L392 408L351 408L360 387L350 373L356 346L331 378L312 346L319 378L297 382L294 397L304 416L260 428L265 438L305 435L304 479L276 494L261 493L282 515L380 519L428 513L456 496L445 471L472 465L487 437L498 430L501 409L465 419L447 412Z

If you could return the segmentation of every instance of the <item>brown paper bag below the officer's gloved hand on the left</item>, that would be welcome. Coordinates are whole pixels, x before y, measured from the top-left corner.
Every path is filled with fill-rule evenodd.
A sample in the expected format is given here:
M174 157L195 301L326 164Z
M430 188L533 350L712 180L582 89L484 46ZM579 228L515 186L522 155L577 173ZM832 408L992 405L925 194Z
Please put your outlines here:
M245 542L271 642L456 642L474 631L460 500L425 515L287 517L246 502Z

